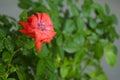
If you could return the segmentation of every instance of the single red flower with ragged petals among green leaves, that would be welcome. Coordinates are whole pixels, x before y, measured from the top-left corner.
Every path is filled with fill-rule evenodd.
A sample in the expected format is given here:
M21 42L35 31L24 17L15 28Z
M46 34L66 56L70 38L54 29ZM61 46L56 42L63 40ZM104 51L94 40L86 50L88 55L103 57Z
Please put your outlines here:
M35 39L36 49L40 51L42 43L49 43L55 36L53 23L46 13L36 13L30 16L26 22L19 22L23 27L21 33Z

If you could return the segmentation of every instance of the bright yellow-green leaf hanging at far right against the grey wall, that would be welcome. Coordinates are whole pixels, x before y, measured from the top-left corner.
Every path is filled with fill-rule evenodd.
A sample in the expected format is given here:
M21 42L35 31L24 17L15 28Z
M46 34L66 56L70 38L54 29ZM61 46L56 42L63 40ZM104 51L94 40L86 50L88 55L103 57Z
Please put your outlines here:
M104 47L104 54L107 63L110 66L115 66L117 62L117 55L115 54L114 47L112 44L106 44L106 46Z

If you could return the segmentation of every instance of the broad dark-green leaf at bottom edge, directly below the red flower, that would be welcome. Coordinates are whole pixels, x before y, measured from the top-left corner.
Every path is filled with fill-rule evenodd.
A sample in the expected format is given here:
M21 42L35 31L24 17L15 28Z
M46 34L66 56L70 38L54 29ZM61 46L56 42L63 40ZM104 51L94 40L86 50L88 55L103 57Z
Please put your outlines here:
M51 57L41 58L38 61L35 80L55 80L54 63Z

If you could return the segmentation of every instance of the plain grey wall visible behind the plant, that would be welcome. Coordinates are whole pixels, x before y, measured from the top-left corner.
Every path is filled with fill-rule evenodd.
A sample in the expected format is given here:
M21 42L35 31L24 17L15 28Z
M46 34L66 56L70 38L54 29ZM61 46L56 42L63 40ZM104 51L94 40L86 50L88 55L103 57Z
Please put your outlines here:
M105 3L109 4L111 8L111 13L115 13L120 21L120 0L95 0L96 2L104 5ZM21 12L17 7L17 0L0 0L0 14L7 14L18 19ZM117 31L120 33L120 24L117 26ZM115 67L110 67L104 60L102 60L101 65L107 76L108 80L120 80L120 41L116 41L115 44L118 46L118 63Z

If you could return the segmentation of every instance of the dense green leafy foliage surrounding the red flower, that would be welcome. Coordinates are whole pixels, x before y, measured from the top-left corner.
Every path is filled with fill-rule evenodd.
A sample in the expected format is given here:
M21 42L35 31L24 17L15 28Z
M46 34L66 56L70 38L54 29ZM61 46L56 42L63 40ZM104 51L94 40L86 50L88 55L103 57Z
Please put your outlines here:
M115 66L117 18L93 0L19 0L20 19L48 13L56 37L37 52L18 21L0 15L0 80L107 80L101 59Z

